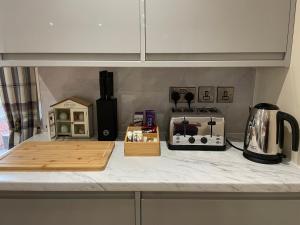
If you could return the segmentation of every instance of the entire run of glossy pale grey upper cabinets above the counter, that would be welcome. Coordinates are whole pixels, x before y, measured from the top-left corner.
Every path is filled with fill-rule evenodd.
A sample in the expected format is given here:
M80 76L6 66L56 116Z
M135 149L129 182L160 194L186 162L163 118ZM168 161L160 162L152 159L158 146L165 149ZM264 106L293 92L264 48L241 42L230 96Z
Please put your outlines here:
M0 66L289 66L295 9L296 0L0 0Z

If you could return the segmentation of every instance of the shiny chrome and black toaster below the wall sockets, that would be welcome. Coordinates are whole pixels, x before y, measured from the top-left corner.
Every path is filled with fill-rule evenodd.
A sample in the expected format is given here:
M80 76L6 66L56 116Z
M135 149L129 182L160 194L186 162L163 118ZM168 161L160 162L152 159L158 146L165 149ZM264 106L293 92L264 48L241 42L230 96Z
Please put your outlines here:
M217 108L173 111L169 124L168 147L171 150L225 150L223 114Z

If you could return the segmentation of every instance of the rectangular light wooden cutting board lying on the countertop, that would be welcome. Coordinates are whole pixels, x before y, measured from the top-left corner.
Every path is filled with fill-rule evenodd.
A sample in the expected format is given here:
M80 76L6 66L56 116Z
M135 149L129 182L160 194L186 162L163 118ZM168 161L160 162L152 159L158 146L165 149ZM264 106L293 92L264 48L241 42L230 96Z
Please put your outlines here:
M0 171L104 170L114 145L110 141L28 141L0 159Z

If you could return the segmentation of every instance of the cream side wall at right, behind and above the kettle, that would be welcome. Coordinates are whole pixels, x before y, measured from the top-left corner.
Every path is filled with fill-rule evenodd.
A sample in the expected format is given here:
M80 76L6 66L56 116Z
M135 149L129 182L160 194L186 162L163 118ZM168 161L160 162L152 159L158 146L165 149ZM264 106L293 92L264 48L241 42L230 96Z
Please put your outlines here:
M294 115L300 122L300 2L297 3L294 41L290 68L257 69L254 102L271 102L281 110ZM290 140L290 134L287 135ZM290 141L285 146L290 154ZM300 165L300 154L293 153L292 160Z

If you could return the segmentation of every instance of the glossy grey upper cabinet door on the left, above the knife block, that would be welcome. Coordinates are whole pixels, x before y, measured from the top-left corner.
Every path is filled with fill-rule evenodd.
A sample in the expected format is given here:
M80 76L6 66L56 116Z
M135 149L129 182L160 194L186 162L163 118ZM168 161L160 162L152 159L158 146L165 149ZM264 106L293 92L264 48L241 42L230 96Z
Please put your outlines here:
M139 53L139 0L0 0L5 53Z

